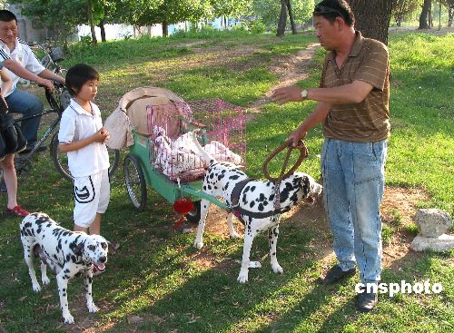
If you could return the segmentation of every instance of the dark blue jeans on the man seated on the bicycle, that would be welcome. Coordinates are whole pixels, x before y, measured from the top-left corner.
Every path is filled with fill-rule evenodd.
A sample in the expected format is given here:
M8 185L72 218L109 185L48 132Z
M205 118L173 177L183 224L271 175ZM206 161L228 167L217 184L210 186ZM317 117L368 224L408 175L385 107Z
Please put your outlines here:
M8 97L6 97L9 111L12 113L22 113L25 116L42 113L44 104L34 94L26 93L15 89ZM41 116L27 119L21 122L21 130L24 133L27 141L27 146L33 147L38 138L38 127L41 121Z

